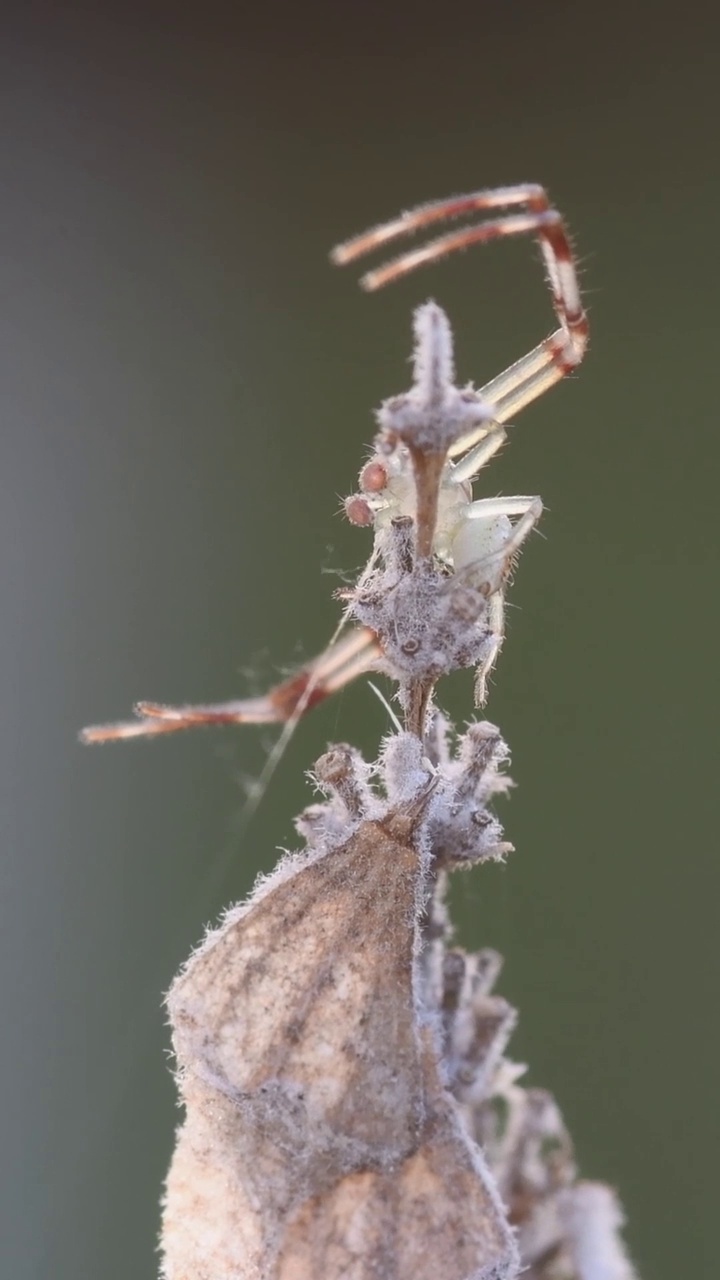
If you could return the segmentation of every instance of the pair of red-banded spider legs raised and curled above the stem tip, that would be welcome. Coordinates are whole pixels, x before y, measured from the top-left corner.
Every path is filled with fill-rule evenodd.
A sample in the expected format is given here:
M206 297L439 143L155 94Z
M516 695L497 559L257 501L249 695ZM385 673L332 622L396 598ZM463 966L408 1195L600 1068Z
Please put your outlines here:
M488 219L475 227L466 227L462 230L442 236L368 273L361 280L364 288L379 289L384 284L391 284L407 275L418 266L436 262L441 257L457 250L469 248L471 244L483 244L507 236L528 234L539 241L552 293L552 305L560 326L503 374L480 388L479 394L487 399L497 422L506 422L525 404L537 399L573 369L577 369L587 348L588 319L580 300L575 259L565 223L557 210L550 205L544 188L534 183L525 183L518 187L478 191L468 196L441 200L432 205L420 205L393 221L384 223L345 244L340 244L332 255L334 262L351 262L389 241L448 218L460 218L486 210L516 209L518 206L525 206L525 211ZM457 457L478 444L484 434L484 429L479 426L469 435L460 438L451 447L450 457Z

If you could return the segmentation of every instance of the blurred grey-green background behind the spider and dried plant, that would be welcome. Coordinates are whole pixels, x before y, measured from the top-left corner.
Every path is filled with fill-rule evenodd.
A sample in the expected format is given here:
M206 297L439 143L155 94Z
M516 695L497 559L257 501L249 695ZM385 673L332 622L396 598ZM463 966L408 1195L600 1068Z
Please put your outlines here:
M710 1277L720 23L615 0L96 9L6 9L0 50L1 1274L156 1275L160 993L293 844L324 744L372 753L387 722L364 684L315 712L245 831L263 733L76 731L240 696L324 645L325 571L368 550L338 495L407 385L411 308L448 310L478 383L551 324L528 243L375 297L327 251L532 179L575 234L592 344L482 488L548 509L488 705L516 852L456 915L505 952L512 1051L620 1188L643 1280ZM469 717L469 677L446 700Z

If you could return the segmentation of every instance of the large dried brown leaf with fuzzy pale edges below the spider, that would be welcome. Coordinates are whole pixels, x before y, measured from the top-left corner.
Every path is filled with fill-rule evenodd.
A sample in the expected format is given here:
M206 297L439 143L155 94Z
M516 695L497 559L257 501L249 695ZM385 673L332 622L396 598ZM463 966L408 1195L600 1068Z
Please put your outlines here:
M512 1274L502 1207L415 997L418 818L415 801L281 863L176 980L187 1117L167 1280Z

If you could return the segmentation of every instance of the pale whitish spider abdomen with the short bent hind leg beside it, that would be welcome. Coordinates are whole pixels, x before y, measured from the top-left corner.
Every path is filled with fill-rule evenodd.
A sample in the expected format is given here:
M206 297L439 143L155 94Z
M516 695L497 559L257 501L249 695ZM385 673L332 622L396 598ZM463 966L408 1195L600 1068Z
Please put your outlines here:
M488 598L487 648L475 675L475 704L487 698L487 682L505 639L505 586L515 557L542 513L539 498L480 498L465 507L452 535L456 575ZM511 517L519 520L514 525Z

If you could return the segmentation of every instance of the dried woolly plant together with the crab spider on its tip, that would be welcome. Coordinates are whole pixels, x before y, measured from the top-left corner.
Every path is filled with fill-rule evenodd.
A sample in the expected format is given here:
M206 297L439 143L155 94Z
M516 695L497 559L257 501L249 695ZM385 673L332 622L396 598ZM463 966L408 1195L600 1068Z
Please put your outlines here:
M452 945L459 868L503 859L489 808L507 748L457 732L441 676L477 669L480 705L503 595L539 498L473 500L502 424L574 369L587 342L573 253L539 187L423 206L341 246L338 262L436 220L519 207L370 273L377 288L502 236L539 241L559 328L480 390L454 381L434 302L415 314L410 390L383 403L348 517L374 529L342 591L346 630L260 699L141 704L87 741L200 723L290 721L370 668L397 684L404 723L366 763L334 745L322 799L288 854L232 908L168 996L184 1120L163 1216L165 1280L633 1280L610 1188L578 1180L552 1097L505 1057L515 1011L500 956Z

